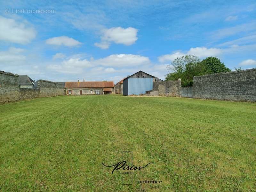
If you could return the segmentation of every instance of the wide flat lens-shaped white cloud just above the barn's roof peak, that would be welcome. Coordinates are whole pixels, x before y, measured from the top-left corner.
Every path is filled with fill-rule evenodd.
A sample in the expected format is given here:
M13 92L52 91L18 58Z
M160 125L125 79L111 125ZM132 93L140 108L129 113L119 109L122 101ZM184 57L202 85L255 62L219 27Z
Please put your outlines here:
M140 55L132 54L115 54L109 55L103 59L94 60L94 63L103 66L114 66L114 67L124 67L124 66L138 66L142 64L150 63L148 57L143 57Z

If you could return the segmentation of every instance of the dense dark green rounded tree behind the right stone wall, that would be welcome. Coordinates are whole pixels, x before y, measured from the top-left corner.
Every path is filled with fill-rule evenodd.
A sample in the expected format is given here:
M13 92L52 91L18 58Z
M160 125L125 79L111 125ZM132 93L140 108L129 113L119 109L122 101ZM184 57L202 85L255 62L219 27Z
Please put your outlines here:
M206 59L202 60L201 63L208 68L207 74L231 71L231 69L227 68L224 63L221 63L220 59L217 57L207 57Z

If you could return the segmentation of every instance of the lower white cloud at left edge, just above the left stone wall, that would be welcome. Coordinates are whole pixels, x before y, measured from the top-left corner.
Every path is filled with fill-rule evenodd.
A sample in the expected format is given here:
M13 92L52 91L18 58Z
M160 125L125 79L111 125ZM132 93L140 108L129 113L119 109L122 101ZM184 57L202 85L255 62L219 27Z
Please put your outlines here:
M21 55L24 49L10 47L8 51L0 52L0 62L9 64L20 64L26 60L26 56Z

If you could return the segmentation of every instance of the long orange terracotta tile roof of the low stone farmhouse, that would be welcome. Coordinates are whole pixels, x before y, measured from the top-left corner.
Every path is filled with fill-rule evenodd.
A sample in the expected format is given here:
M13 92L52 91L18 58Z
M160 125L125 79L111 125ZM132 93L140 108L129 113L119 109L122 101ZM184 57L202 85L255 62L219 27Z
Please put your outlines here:
M66 82L65 88L93 88L93 87L114 87L113 81L82 81L82 82Z

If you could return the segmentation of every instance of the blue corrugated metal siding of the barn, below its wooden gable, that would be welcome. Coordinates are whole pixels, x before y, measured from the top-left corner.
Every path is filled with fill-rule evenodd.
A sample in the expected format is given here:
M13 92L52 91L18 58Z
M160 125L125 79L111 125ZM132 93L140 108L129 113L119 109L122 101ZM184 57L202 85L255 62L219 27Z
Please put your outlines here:
M127 78L125 80L128 80L128 95L145 94L146 91L153 89L153 78Z

